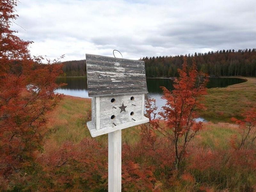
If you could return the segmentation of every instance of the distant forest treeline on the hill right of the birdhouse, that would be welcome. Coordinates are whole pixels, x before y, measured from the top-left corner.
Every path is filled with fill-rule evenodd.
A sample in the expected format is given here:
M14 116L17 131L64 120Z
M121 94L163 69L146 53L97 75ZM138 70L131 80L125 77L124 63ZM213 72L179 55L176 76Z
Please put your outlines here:
M212 77L218 76L256 76L256 49L220 50L208 53L188 54L188 65L195 56L198 70ZM184 55L143 57L147 77L177 76Z

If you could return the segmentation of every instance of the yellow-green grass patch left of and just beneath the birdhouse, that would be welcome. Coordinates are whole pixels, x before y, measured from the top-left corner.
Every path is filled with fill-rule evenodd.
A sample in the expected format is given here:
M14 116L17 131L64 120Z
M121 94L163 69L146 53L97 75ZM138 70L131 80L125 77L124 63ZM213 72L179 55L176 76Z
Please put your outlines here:
M58 148L66 141L79 143L83 138L91 137L86 126L86 117L91 108L91 100L65 95L59 105L48 115L49 132L45 144L47 148ZM90 114L89 114L90 115ZM122 131L122 141L128 144L137 140L139 130L136 127ZM95 138L102 145L107 145L108 135Z

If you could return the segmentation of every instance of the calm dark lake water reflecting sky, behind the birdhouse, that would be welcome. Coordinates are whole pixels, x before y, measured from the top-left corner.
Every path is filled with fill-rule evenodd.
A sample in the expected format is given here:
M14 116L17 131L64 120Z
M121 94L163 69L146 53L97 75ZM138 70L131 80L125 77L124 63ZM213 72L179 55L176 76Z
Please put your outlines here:
M228 85L243 82L245 82L244 79L210 78L210 82L208 83L207 87L226 87ZM65 95L89 98L87 91L87 82L85 77L59 77L57 79L57 83L66 83L68 85L61 87L61 89L58 89L56 92L63 93ZM172 90L172 81L169 79L147 79L147 85L148 97L156 99L156 105L159 111L161 107L165 105L165 100L161 99L162 90L159 88L159 86L164 86L169 90Z

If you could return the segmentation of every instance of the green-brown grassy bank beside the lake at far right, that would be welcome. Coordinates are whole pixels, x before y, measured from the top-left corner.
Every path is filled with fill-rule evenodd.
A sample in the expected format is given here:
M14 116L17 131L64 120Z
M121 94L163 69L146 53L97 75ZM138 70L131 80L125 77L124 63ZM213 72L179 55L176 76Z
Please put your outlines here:
M244 83L208 89L204 101L207 110L199 112L200 116L215 123L230 122L231 117L241 118L242 113L256 104L256 78L246 79Z

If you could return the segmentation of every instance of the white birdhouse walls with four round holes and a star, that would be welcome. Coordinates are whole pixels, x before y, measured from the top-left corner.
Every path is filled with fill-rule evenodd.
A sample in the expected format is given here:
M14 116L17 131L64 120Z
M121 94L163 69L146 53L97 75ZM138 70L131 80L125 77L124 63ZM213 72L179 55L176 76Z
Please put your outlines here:
M114 128L144 117L144 94L92 98L92 124L96 129Z

